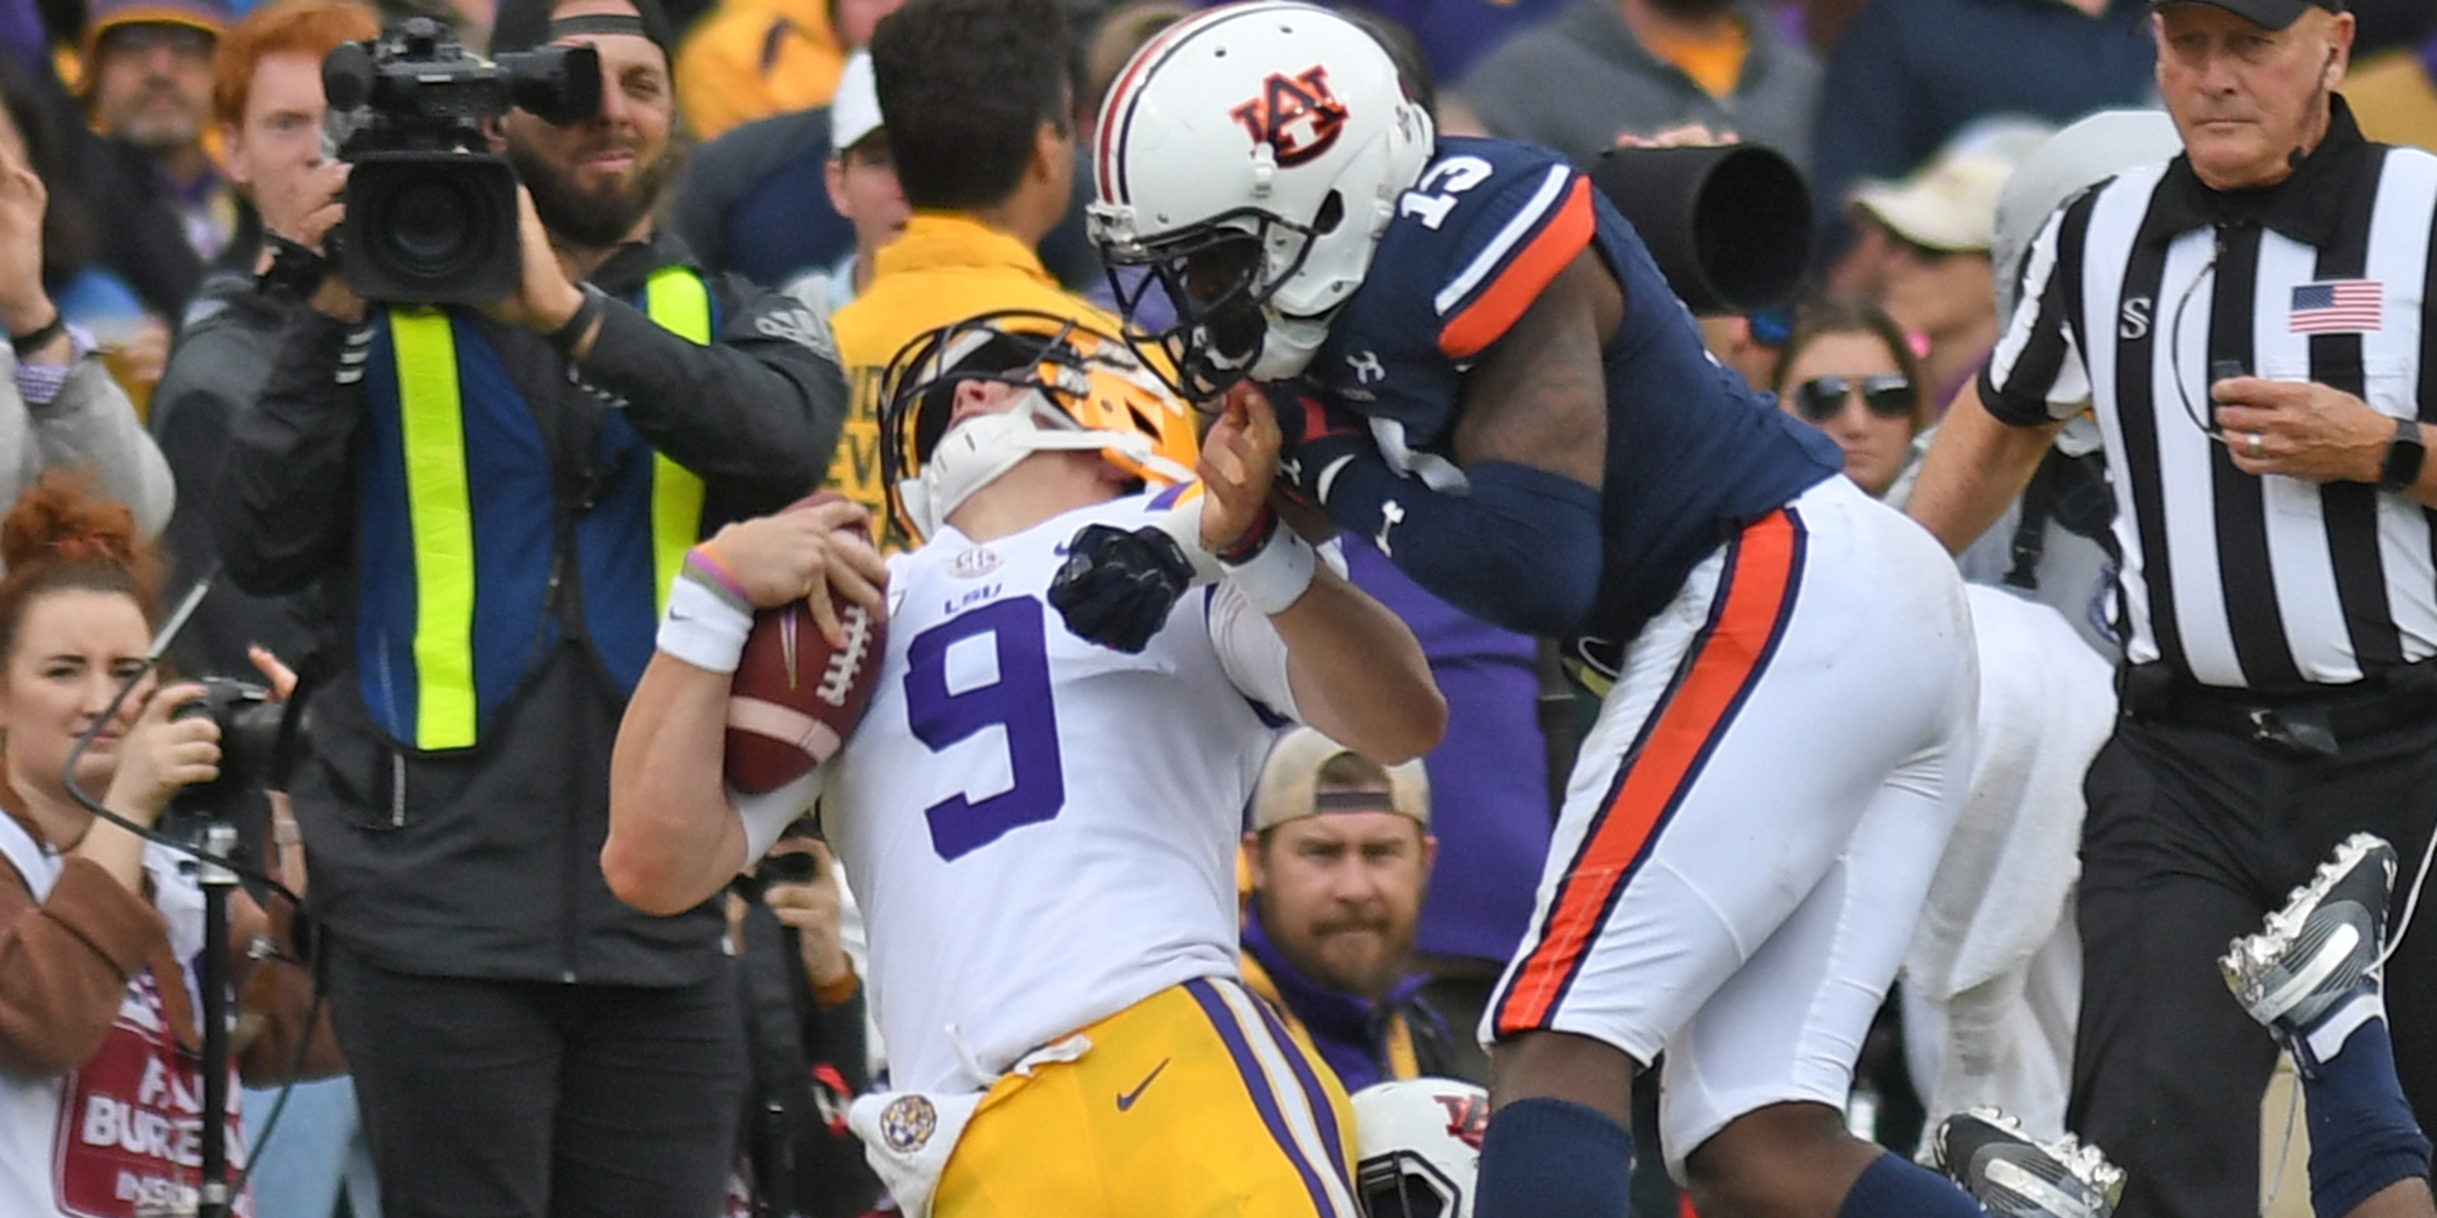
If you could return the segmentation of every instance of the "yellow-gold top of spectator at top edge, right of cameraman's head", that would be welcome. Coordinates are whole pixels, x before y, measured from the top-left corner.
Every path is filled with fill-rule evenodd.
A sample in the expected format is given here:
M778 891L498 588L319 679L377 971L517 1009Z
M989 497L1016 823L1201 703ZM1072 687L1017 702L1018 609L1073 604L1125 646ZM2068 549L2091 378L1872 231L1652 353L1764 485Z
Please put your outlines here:
M699 139L829 105L846 56L902 0L719 0L677 46L677 107Z

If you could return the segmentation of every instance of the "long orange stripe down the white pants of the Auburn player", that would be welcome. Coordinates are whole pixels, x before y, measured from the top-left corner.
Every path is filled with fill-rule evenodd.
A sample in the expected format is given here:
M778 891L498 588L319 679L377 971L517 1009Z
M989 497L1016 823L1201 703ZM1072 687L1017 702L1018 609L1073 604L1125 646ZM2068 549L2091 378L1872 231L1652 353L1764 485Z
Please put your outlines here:
M1696 641L1684 680L1657 709L1657 721L1616 784L1616 797L1591 823L1574 867L1557 889L1540 945L1523 960L1499 1004L1499 1035L1545 1026L1557 994L1582 967L1599 935L1601 916L1625 882L1660 821L1682 799L1708 753L1742 704L1742 692L1767 660L1786 597L1794 592L1794 553L1801 543L1794 519L1772 512L1742 531L1728 565L1723 602ZM1611 692L1611 697L1616 697ZM1647 1065L1647 1062L1645 1062Z

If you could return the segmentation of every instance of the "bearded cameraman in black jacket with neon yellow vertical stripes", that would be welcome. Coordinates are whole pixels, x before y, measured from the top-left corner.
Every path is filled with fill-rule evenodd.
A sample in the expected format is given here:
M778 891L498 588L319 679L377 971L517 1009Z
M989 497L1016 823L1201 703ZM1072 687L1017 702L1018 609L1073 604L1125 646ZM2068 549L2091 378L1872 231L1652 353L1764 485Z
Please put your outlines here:
M609 894L609 743L665 560L809 492L846 385L819 317L658 231L668 41L656 0L500 5L492 54L602 61L595 114L492 129L524 180L522 283L368 307L283 251L271 278L307 300L212 504L241 587L327 570L351 633L292 794L395 1218L714 1213L736 1145L719 906Z

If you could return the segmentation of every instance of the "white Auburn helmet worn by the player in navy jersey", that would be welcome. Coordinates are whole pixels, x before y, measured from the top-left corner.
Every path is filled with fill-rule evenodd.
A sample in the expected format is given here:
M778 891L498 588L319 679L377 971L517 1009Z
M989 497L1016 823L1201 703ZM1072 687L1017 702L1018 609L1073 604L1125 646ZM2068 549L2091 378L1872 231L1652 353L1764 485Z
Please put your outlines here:
M1389 54L1323 7L1223 5L1143 44L1099 110L1092 244L1128 322L1153 285L1175 304L1153 339L1177 390L1301 373L1433 141Z

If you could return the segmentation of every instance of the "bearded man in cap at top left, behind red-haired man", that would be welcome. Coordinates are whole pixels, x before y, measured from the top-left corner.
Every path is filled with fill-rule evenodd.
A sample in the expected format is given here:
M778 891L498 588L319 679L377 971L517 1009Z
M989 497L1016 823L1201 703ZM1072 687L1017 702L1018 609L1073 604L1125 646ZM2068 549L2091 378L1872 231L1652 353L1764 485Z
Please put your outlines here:
M88 185L124 217L100 253L136 290L146 314L141 324L122 319L117 331L95 329L105 343L158 343L166 353L168 324L244 227L244 205L205 149L212 49L229 22L224 0L93 5L85 107L105 139ZM151 373L158 380L158 363Z

